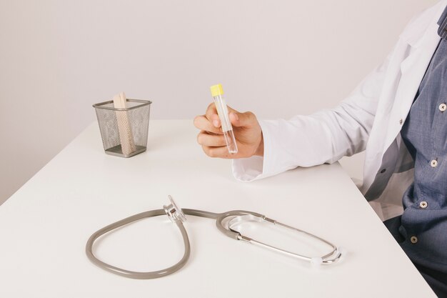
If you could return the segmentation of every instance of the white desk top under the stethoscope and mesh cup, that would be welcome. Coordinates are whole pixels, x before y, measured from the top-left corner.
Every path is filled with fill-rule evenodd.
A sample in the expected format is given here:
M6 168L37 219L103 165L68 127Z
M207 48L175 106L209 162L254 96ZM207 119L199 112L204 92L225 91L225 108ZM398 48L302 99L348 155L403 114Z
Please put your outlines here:
M197 133L192 121L151 121L147 152L123 159L104 154L97 124L89 126L0 206L0 297L435 297L340 165L240 183L230 161L205 156ZM160 209L167 194L184 208L266 214L348 255L316 269L189 217L191 259L169 277L126 279L89 262L93 232ZM167 217L157 217L97 249L106 262L152 271L174 264L181 243Z

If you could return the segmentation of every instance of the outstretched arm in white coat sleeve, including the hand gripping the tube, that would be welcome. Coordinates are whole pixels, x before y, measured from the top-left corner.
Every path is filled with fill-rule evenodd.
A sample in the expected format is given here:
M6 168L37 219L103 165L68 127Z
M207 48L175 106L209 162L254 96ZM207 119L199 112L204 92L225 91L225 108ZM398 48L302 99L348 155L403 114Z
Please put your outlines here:
M332 163L366 148L389 58L363 79L334 109L286 121L257 121L251 112L230 111L239 152L231 156L221 135L214 104L194 124L198 142L210 157L232 158L233 174L244 182L270 177L296 167Z

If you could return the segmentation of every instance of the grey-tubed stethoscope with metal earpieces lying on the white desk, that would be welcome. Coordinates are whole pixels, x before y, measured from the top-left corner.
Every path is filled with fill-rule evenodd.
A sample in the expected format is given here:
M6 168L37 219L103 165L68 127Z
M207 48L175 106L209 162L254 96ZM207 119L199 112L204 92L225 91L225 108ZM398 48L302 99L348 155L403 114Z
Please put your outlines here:
M89 240L86 244L86 254L87 257L89 257L90 261L96 264L96 266L105 269L109 272L112 272L114 274L119 274L124 277L129 277L133 279L154 279L159 277L165 277L166 275L172 274L176 272L177 270L181 269L181 267L184 267L186 262L189 259L189 254L191 252L191 246L189 244L189 238L188 233L186 232L186 229L184 227L184 222L186 221L185 214L192 215L196 217L206 217L209 219L216 219L216 227L221 231L222 233L226 234L226 236L231 237L236 240L243 240L244 242L248 242L251 244L258 245L260 247L264 247L267 249L271 249L276 252L281 252L283 254L287 254L288 256L295 257L297 259L301 259L307 262L311 262L311 264L320 265L320 264L333 264L334 262L338 261L338 259L341 258L341 251L338 249L335 245L333 245L331 242L328 242L325 239L322 239L314 234L305 232L301 229L296 229L294 227L290 227L287 224L282 224L281 222L277 222L274 219L270 219L268 217L265 217L262 214L258 214L256 212L249 212L249 211L243 211L243 210L233 210L228 211L224 213L214 213L214 212L206 212L202 210L196 210L196 209L180 209L177 207L176 203L172 199L171 196L169 196L169 201L171 204L168 206L164 206L163 209L156 209L151 210L148 212L142 212L139 214L135 214L131 217L127 217L125 219L121 219L119 222L114 222L113 224L109 224L107 227L104 227L102 229L99 229L98 231L94 232L94 234L91 235ZM117 229L119 227L123 227L126 224L130 224L131 222L136 222L137 220L144 219L147 217L157 217L159 215L167 214L169 219L171 219L171 222L177 225L181 232L181 236L183 237L184 242L184 256L180 259L179 262L174 264L171 267L168 267L166 269L161 269L154 272L134 272L129 271L126 269L122 269L119 267L115 267L111 264L107 264L106 262L101 261L100 259L96 258L96 256L93 253L93 245L96 239L101 237L102 235L113 231L114 229ZM228 220L229 219L229 220ZM320 242L323 242L328 247L330 247L328 253L324 254L321 257L307 257L301 254L296 254L294 252L289 252L284 249L279 249L277 247L273 247L269 244L257 241L255 239L251 239L250 237L243 236L240 232L236 230L236 226L238 224L241 224L242 222L268 222L271 224L275 224L278 227L283 227L285 229L291 229L293 232L298 232L302 234L306 234L308 237L312 237L313 239L317 239ZM226 227L224 226L224 222L226 222Z

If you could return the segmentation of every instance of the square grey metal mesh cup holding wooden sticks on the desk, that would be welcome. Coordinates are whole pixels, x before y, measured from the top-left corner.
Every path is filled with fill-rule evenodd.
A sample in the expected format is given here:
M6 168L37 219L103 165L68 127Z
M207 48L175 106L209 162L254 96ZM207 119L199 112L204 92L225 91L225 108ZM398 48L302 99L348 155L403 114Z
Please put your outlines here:
M152 101L126 99L126 109L116 109L114 101L93 105L106 154L133 157L146 151L151 104Z

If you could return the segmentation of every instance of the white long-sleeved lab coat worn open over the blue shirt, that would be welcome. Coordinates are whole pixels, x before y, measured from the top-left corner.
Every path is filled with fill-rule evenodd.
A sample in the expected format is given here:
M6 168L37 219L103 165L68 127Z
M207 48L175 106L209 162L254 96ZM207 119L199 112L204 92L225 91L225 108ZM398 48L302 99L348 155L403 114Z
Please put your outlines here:
M413 182L413 159L400 131L440 41L447 0L423 11L399 36L381 66L335 109L286 121L260 121L264 156L233 160L236 179L248 182L296 167L333 163L366 149L361 192L381 219L401 214Z

